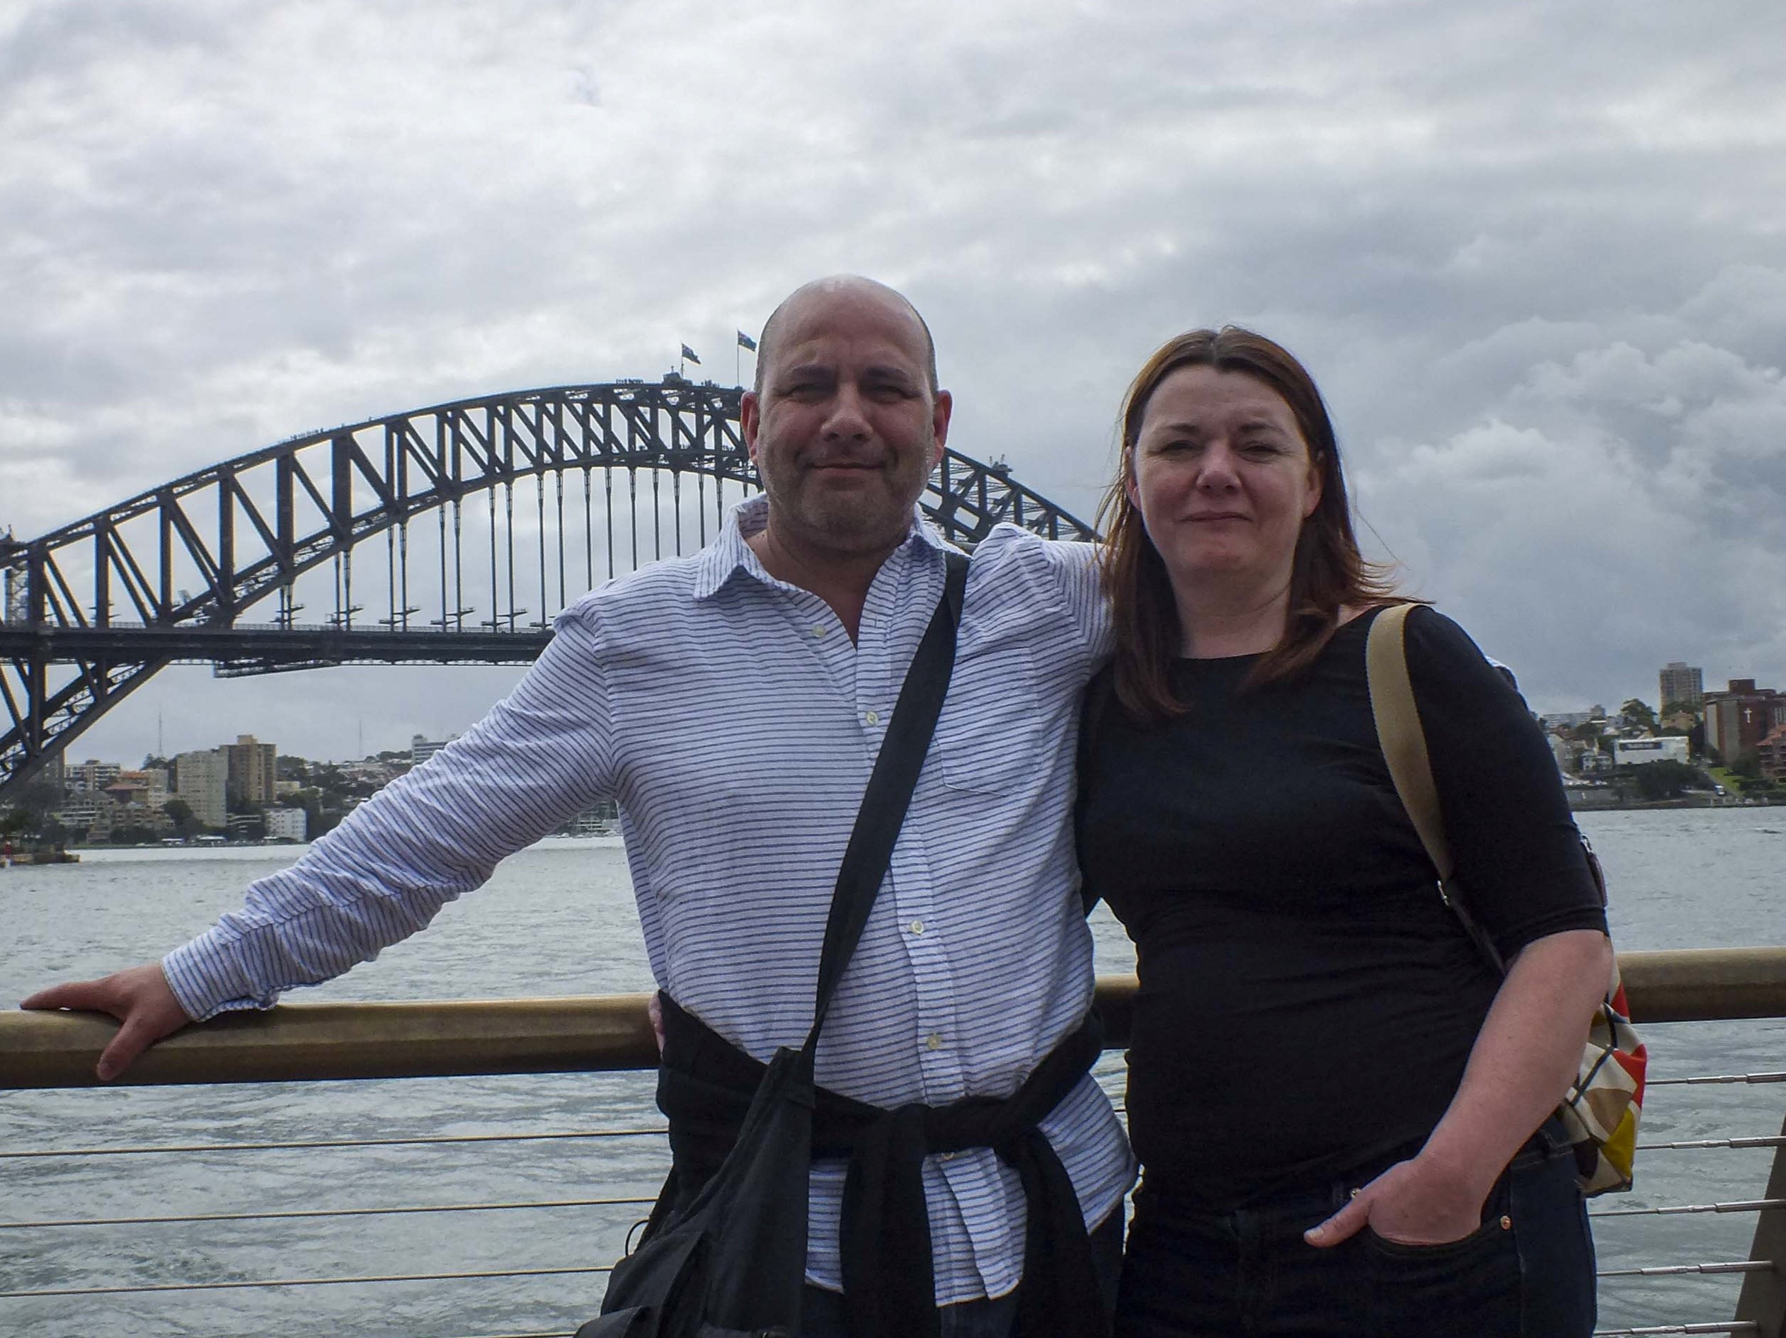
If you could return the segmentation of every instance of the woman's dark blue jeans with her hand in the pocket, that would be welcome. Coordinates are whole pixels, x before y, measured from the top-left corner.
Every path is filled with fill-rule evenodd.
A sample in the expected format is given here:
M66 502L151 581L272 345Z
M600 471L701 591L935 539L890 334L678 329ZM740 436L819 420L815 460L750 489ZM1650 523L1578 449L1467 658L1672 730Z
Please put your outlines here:
M1381 1167L1377 1170L1382 1170ZM1302 1233L1373 1177L1259 1209L1175 1211L1136 1195L1116 1338L1588 1338L1593 1238L1575 1159L1547 1124L1495 1184L1482 1225L1447 1245L1368 1227L1318 1250Z

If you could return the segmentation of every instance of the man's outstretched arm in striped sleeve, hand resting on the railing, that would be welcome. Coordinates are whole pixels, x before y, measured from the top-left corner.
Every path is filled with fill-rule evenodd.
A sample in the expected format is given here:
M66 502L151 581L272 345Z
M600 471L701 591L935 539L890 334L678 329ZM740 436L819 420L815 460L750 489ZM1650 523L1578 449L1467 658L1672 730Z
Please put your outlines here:
M464 738L386 786L243 909L161 963L54 986L23 1008L109 1013L123 1025L102 1081L184 1027L270 1008L416 932L500 859L614 793L614 740L588 613L564 615L539 661Z

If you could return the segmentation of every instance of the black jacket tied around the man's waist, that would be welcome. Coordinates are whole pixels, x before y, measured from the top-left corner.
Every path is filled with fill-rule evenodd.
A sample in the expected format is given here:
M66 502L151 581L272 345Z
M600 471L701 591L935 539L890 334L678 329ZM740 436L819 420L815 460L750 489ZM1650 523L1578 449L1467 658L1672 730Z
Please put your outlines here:
M668 995L661 1000L657 1106L670 1118L672 1170L654 1224L689 1202L725 1161L764 1074L764 1065ZM1104 1025L1088 1013L1009 1097L880 1109L818 1088L813 1156L848 1159L839 1254L852 1338L939 1333L923 1159L973 1147L993 1149L1018 1174L1029 1204L1022 1331L1063 1338L1109 1331L1079 1195L1039 1127L1102 1049Z

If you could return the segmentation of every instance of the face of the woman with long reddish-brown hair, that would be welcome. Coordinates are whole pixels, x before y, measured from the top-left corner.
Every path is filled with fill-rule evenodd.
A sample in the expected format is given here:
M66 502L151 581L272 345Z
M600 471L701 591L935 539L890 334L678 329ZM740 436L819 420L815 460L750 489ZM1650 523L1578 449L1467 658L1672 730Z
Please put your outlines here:
M1289 582L1322 479L1275 389L1243 372L1184 366L1147 402L1129 500L1175 588L1275 591Z

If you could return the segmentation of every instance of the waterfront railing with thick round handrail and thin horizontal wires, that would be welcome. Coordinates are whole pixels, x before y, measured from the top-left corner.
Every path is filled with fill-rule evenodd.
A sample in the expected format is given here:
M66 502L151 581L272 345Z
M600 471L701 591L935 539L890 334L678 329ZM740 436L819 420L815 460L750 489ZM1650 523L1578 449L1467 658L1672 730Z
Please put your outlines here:
M1629 952L1620 972L1636 1022L1704 1022L1786 1016L1786 947L1682 952ZM1109 1045L1127 1043L1136 981L1106 977L1098 983ZM145 1054L121 1084L289 1083L375 1077L448 1077L480 1074L559 1074L650 1068L655 1043L645 1015L645 995L454 1000L418 1004L284 1004L266 1013L229 1015L189 1027ZM0 1090L88 1088L98 1054L114 1033L109 1018L71 1013L0 1013ZM1786 1072L1657 1077L1654 1088L1732 1084L1786 1084ZM7 1163L43 1158L213 1156L255 1150L316 1150L350 1147L427 1147L450 1143L527 1143L554 1140L659 1138L663 1129L568 1129L545 1133L438 1134L420 1138L334 1138L164 1143L150 1147L32 1147L0 1149ZM1773 1149L1773 1165L1759 1199L1704 1204L1616 1208L1598 1200L1593 1217L1645 1218L1752 1213L1757 1218L1747 1259L1657 1263L1602 1270L1602 1279L1643 1281L1686 1275L1740 1274L1736 1315L1704 1324L1602 1329L1611 1338L1638 1334L1757 1334L1786 1338L1786 1125L1779 1136L1729 1136L1654 1141L1643 1150L1706 1152ZM409 1218L443 1213L513 1213L518 1209L643 1209L648 1199L579 1195L559 1199L498 1199L443 1204L380 1204L373 1208L302 1208L227 1213L127 1213L111 1217L32 1215L0 1220L0 1242L27 1231L82 1227L148 1227L171 1224L268 1224L311 1218ZM0 1290L0 1300L50 1297L116 1297L155 1292L225 1292L245 1288L329 1288L366 1283L420 1283L495 1277L597 1275L605 1267L491 1268L459 1272L355 1272L321 1277L250 1277L195 1283L130 1283L84 1288ZM561 1331L529 1334L468 1334L466 1338L557 1338Z

